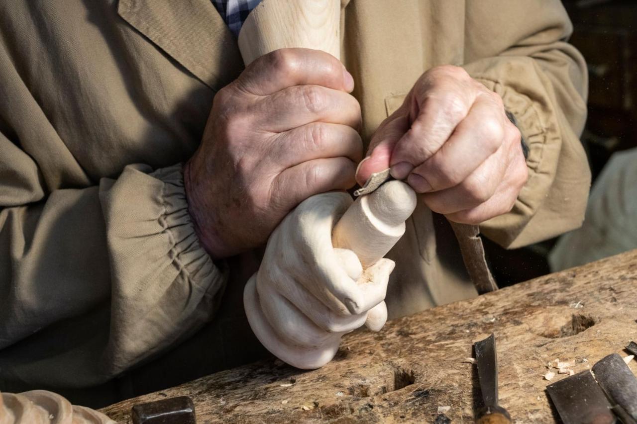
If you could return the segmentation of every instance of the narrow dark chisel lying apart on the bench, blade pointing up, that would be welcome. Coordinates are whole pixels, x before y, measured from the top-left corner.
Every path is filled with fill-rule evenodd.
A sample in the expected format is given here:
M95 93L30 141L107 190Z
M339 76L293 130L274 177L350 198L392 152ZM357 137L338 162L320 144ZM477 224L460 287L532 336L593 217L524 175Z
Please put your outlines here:
M484 407L478 412L478 424L510 424L511 416L505 408L498 406L497 397L497 351L496 337L491 334L473 344L478 367L478 380Z

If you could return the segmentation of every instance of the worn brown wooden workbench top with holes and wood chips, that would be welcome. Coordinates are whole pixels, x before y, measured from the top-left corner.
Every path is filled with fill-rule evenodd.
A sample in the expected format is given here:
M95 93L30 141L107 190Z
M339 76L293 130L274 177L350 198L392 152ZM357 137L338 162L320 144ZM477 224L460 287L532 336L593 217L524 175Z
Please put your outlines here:
M350 334L315 371L257 362L102 411L131 423L132 405L187 395L199 424L472 422L480 392L475 365L463 360L494 332L501 405L515 422L550 423L547 362L575 361L578 372L610 353L626 356L636 320L634 250ZM629 366L637 372L637 361Z

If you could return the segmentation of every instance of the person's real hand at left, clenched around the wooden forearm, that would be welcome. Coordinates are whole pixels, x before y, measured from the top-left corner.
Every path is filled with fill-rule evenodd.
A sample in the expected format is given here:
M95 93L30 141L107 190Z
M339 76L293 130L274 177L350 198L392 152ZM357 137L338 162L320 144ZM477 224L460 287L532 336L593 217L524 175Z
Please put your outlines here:
M213 258L264 244L299 202L355 184L362 157L354 80L325 52L254 60L213 101L184 169L189 212Z

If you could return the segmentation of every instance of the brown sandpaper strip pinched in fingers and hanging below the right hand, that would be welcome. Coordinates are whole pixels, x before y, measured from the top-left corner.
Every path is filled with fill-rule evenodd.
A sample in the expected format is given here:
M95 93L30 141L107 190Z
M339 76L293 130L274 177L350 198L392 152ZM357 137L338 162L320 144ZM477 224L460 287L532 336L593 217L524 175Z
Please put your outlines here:
M392 180L390 169L373 173L369 176L365 185L354 192L355 196L369 194L380 187L386 181ZM493 278L487 258L485 257L484 246L478 225L468 225L449 221L455 236L458 239L462 260L466 266L469 278L476 288L478 294L493 292L497 290L496 280Z

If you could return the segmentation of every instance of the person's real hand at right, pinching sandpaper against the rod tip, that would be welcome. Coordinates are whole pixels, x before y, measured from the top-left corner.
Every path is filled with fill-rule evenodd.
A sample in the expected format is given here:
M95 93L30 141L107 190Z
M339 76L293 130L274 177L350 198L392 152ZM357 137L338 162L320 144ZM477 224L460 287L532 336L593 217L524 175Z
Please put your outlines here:
M527 180L520 132L502 99L455 66L420 77L378 127L357 181L390 166L432 211L469 224L510 211Z

